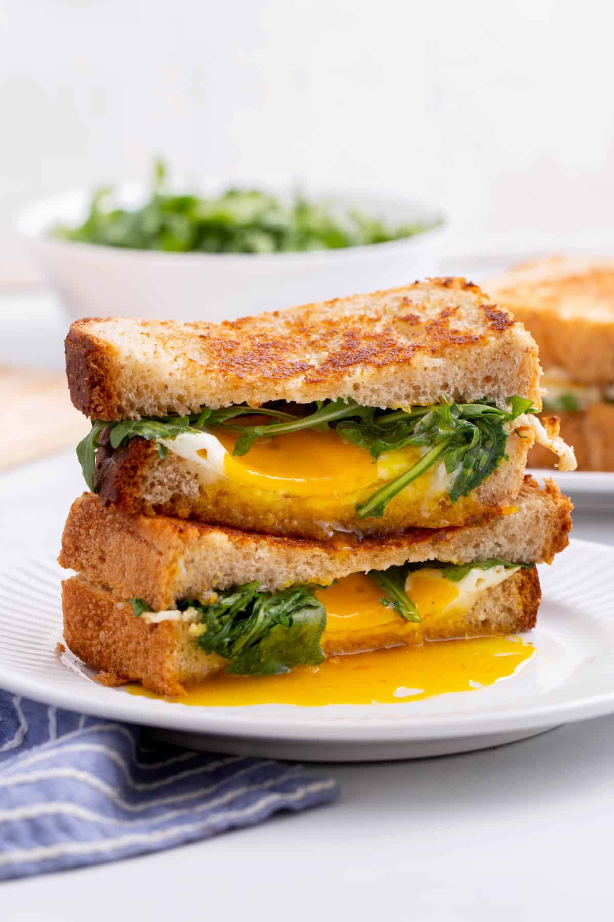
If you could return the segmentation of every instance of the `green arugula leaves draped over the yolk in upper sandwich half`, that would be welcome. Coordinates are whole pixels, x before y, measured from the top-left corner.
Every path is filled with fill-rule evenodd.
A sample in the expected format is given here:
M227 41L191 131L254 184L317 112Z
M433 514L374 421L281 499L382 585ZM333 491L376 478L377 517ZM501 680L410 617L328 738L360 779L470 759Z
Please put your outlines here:
M287 432L303 429L329 429L337 435L367 449L373 460L384 452L394 452L409 445L423 447L424 454L396 479L384 484L372 496L357 506L360 518L380 516L390 500L418 479L429 468L443 461L449 474L455 474L449 489L452 502L468 496L498 467L506 457L508 433L505 423L521 413L531 412L531 401L525 397L511 396L510 410L502 410L485 397L473 404L457 404L442 396L441 403L409 410L380 410L362 407L351 398L317 403L308 415L296 415L284 410L261 407L202 408L190 416L168 416L160 419L124 420L106 423L96 420L89 436L79 443L77 455L89 489L94 489L95 457L98 436L103 427L110 427L113 449L140 436L158 444L160 457L166 455L166 446L160 440L172 439L190 431L202 431L204 426L225 424L237 432L233 455L250 451L258 438L273 438ZM270 416L274 422L242 425L240 418L247 415Z

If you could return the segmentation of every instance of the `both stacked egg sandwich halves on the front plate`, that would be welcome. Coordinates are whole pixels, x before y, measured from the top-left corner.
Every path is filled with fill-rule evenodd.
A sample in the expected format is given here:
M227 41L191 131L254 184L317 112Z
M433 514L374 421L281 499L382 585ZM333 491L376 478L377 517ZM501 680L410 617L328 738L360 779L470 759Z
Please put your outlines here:
M571 503L524 476L537 346L458 278L220 325L79 321L89 492L60 562L65 640L109 683L533 627Z

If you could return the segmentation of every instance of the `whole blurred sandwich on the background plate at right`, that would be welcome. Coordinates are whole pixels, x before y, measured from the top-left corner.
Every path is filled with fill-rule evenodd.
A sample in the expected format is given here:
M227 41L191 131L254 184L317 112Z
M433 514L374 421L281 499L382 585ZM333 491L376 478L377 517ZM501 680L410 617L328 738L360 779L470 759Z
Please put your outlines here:
M537 340L544 411L561 418L583 470L614 470L614 260L556 257L492 280L490 294ZM537 446L533 467L552 455Z

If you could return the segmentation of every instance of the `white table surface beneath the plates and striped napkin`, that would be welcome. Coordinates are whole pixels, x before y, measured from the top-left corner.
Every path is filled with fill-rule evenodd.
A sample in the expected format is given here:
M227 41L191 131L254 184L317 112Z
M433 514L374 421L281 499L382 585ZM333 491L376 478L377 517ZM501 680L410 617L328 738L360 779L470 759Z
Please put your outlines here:
M0 478L0 546L59 547L83 489L74 452ZM611 506L575 513L614 543ZM7 922L514 922L611 914L614 716L492 750L419 762L317 765L332 806L156 855L5 883Z

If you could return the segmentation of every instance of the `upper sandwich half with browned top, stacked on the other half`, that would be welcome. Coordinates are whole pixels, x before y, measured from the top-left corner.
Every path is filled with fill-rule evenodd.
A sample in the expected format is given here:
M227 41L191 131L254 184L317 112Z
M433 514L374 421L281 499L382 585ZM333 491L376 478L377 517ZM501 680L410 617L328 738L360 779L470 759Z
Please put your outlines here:
M465 525L520 490L537 346L462 278L223 324L78 321L77 449L100 501L274 535Z

